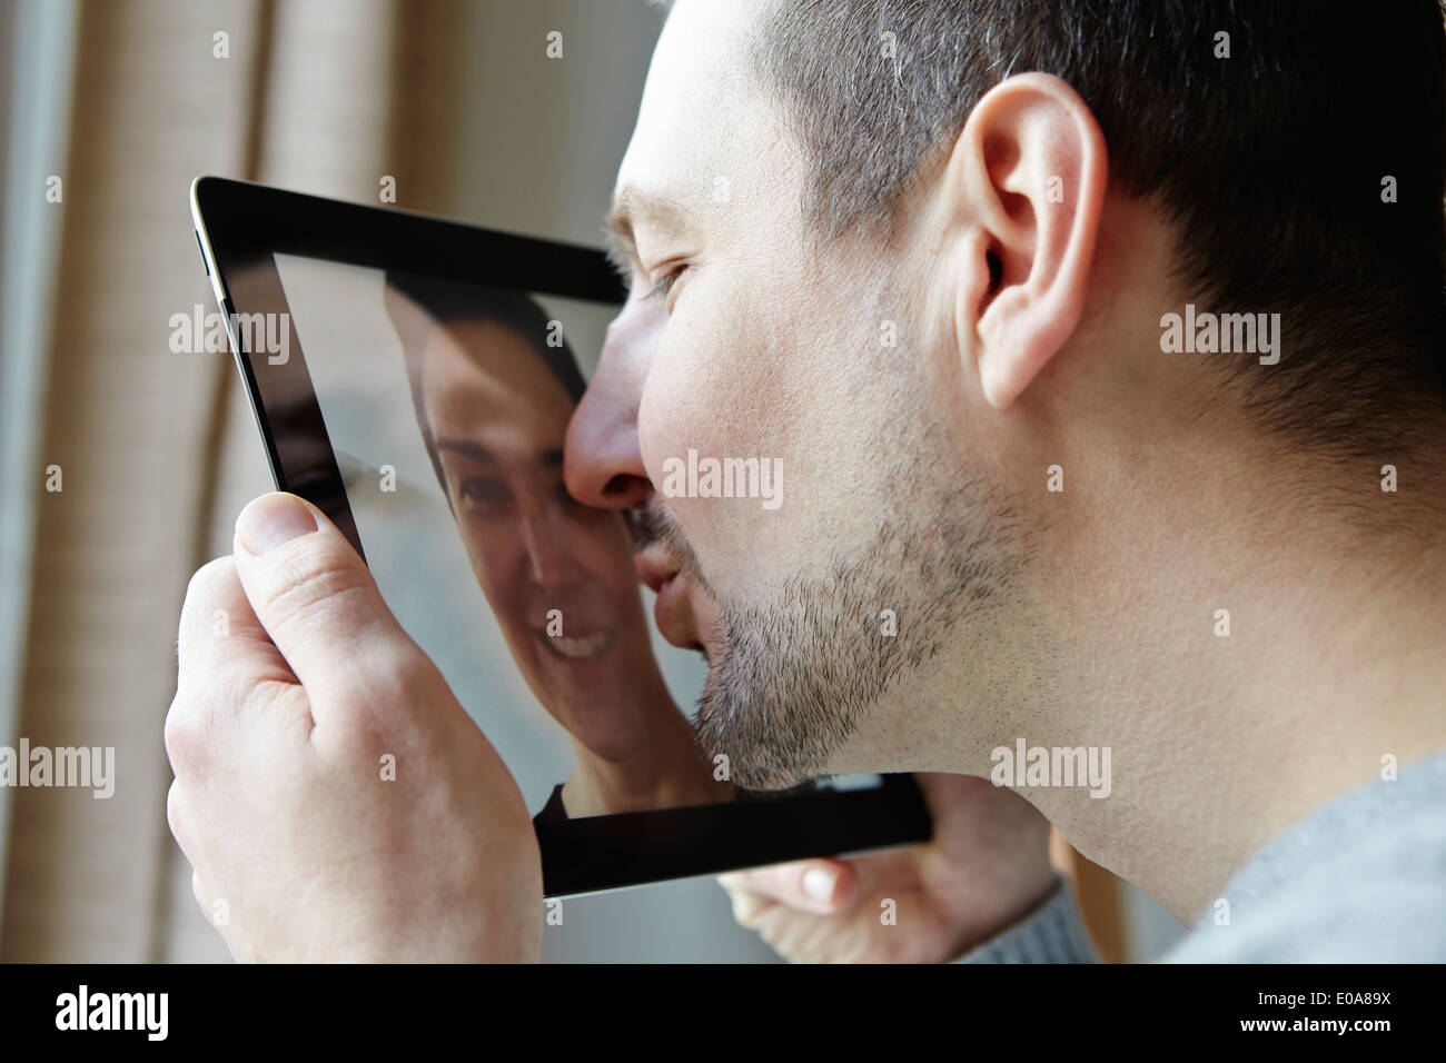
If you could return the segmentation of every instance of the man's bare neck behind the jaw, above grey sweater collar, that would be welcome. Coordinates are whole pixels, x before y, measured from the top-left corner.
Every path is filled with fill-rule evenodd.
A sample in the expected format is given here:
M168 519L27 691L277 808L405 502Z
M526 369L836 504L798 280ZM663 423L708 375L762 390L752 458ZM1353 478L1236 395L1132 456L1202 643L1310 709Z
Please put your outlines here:
M1111 746L1111 793L1019 790L1181 920L1314 808L1446 748L1442 525L1361 479L1314 512L1291 509L1299 483L1242 512L1238 477L1206 477L1183 505L1161 492L1171 512L1100 519L1118 564L1074 589L1069 613L1099 619L1064 635L1064 659L1086 664L1027 738ZM1391 505L1400 521L1352 522Z

